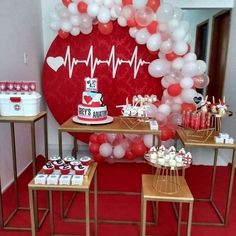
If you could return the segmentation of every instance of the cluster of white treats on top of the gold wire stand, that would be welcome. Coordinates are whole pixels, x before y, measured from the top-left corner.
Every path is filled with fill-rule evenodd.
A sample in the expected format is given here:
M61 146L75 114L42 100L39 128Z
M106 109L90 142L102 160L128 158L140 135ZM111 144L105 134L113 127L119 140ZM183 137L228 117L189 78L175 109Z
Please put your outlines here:
M192 163L192 155L190 152L185 152L182 148L179 152L176 152L174 146L166 149L164 146L159 148L151 147L146 154L146 159L153 164L170 167L171 169L177 167L185 167Z

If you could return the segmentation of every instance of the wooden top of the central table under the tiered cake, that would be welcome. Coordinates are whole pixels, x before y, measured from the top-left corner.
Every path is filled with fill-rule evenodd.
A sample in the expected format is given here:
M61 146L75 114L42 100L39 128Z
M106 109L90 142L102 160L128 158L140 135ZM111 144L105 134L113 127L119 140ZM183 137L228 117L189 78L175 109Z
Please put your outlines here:
M151 130L148 122L138 122L134 119L113 117L113 122L102 125L83 125L75 123L72 118L63 123L58 130L63 132L84 132L84 133L132 133L132 134L158 134L159 130ZM126 119L126 120L125 120Z

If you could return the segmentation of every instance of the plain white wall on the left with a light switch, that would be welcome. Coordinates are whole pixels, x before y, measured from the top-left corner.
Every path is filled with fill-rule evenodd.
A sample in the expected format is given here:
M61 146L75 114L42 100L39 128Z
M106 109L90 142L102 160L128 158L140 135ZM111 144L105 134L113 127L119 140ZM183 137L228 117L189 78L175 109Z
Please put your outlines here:
M0 80L35 80L41 92L43 59L41 2L38 0L0 1ZM28 64L23 54L28 54ZM37 153L42 153L42 122L37 123ZM31 162L30 127L16 125L18 172ZM0 175L5 188L12 180L9 124L0 123Z

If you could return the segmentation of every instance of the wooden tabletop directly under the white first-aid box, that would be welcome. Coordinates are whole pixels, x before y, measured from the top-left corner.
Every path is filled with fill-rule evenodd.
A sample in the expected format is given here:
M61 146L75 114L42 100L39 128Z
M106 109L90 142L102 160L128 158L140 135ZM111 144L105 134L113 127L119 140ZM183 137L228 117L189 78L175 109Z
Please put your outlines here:
M35 122L45 116L46 111L41 111L36 116L0 116L0 123L27 123L27 122Z

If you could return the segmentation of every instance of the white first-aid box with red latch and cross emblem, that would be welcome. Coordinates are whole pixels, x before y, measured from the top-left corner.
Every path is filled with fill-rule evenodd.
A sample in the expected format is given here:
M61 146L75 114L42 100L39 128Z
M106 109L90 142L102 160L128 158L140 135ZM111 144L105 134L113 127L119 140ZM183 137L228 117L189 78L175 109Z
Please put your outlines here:
M1 116L35 116L40 112L41 95L37 92L1 92Z

